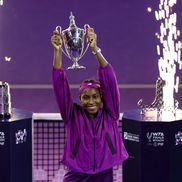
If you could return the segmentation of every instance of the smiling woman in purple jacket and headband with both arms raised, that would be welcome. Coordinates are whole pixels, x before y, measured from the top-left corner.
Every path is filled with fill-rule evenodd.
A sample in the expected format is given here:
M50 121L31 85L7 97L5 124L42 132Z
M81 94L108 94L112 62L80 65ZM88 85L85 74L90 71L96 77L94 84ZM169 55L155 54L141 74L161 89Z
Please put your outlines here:
M115 165L128 154L118 129L120 96L114 70L97 46L93 28L87 41L98 61L99 81L86 80L79 88L80 103L73 103L62 66L62 39L53 32L53 88L66 127L62 164L68 167L64 182L112 182Z

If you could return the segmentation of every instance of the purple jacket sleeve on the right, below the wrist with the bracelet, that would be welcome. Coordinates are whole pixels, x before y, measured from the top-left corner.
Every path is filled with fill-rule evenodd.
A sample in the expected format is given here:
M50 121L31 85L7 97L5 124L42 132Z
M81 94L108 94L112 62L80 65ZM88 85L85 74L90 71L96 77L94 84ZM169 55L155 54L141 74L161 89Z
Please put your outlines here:
M104 106L114 119L119 119L120 94L115 72L108 64L105 67L99 67L98 74Z

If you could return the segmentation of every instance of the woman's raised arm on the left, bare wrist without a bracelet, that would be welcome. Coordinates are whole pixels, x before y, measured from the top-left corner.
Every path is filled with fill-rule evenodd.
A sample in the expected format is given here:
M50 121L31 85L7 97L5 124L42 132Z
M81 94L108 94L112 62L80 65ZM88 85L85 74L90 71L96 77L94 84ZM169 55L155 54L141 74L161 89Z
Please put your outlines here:
M54 48L53 57L53 89L63 120L67 123L72 113L73 101L66 74L62 68L62 39L57 31L53 32L51 44Z

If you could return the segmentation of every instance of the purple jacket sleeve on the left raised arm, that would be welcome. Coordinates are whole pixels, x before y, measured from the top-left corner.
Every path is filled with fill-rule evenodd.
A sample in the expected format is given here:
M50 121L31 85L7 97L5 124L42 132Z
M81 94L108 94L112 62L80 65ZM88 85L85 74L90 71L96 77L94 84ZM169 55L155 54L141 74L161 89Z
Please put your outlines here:
M52 79L53 89L61 116L65 122L68 122L72 112L73 101L64 70L53 68Z

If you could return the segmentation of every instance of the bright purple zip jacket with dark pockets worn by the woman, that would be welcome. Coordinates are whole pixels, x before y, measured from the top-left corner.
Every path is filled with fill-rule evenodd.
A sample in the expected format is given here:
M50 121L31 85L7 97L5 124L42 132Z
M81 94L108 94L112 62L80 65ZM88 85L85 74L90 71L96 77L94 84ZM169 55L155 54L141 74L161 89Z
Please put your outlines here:
M127 159L118 128L120 96L115 73L110 64L98 69L103 106L90 118L73 103L64 70L53 68L53 87L66 127L62 163L73 171L94 174L119 165Z

